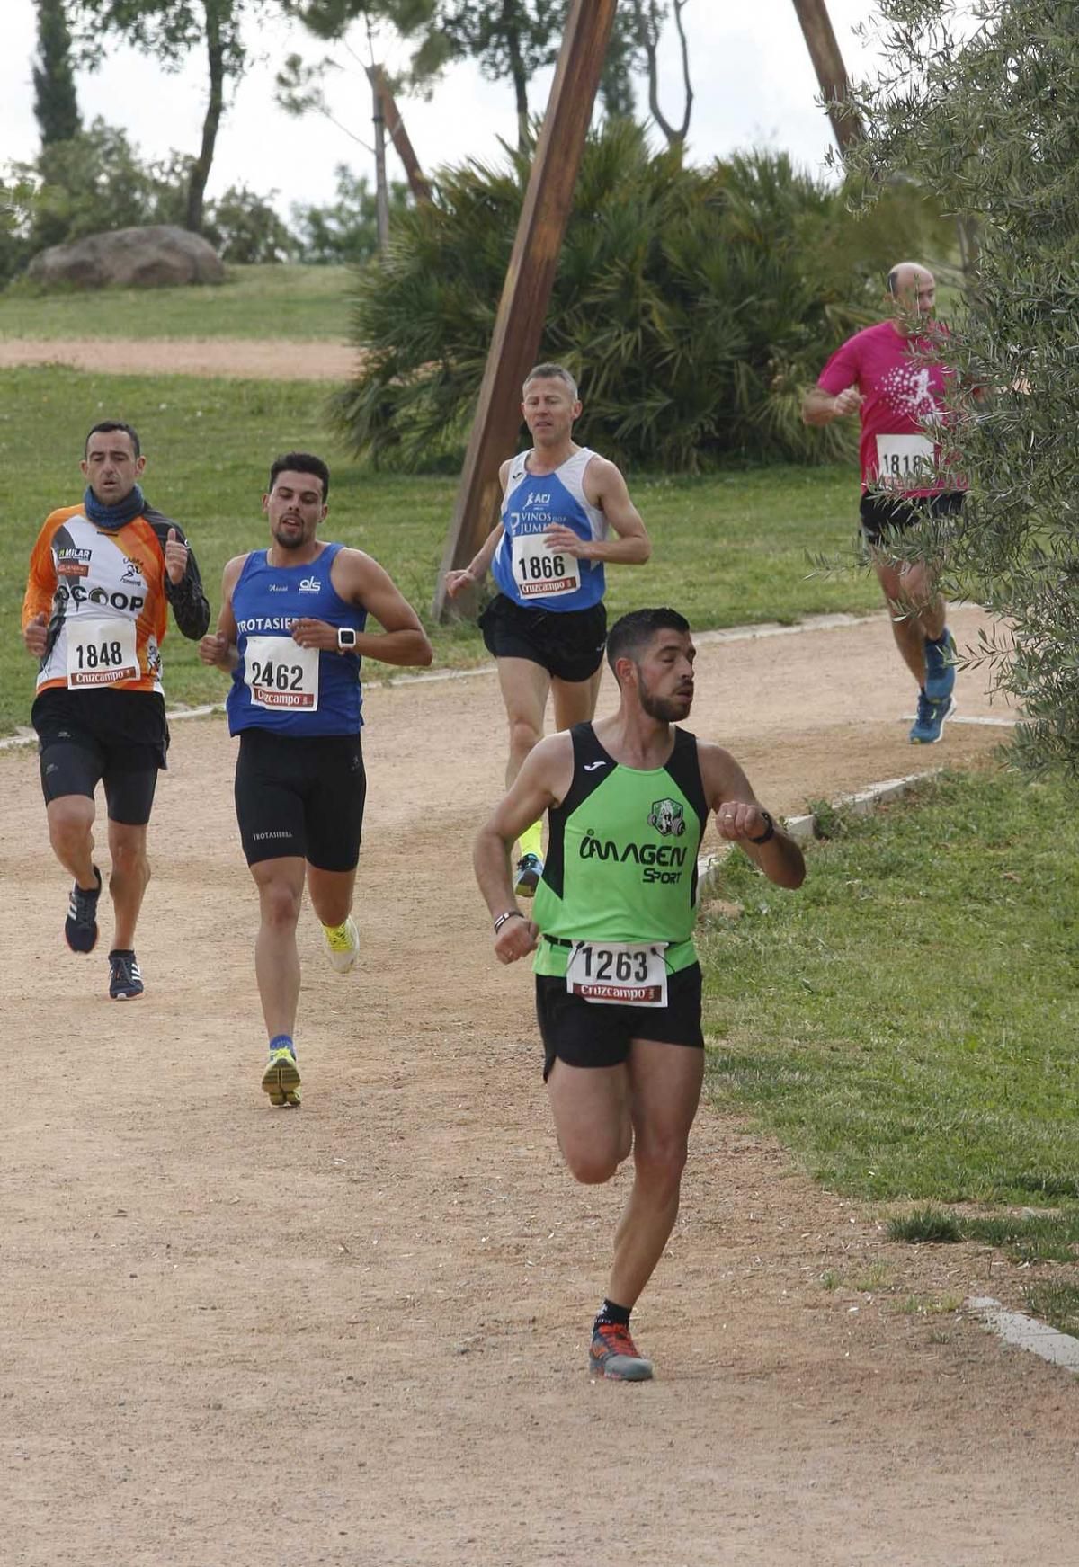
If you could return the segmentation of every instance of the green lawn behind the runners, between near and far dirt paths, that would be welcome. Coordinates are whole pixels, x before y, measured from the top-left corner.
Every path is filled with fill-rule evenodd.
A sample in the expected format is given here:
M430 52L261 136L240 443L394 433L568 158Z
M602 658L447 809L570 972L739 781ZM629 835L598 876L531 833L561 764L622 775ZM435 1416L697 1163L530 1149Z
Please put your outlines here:
M147 454L144 490L188 530L213 614L224 561L265 541L259 509L270 461L289 447L325 453L332 469L328 537L376 556L427 619L452 476L380 475L345 459L326 434L326 389L311 382L93 376L52 367L0 371L0 732L25 722L33 664L17 613L30 547L47 512L82 495L78 456L99 418L133 423ZM856 478L847 469L768 469L676 483L632 476L654 537L645 569L612 570L609 611L673 603L698 628L797 621L823 610L878 606L864 572L809 577L806 550L842 555L852 541ZM475 627L431 628L436 661L485 658ZM221 699L223 682L174 630L165 644L171 702Z

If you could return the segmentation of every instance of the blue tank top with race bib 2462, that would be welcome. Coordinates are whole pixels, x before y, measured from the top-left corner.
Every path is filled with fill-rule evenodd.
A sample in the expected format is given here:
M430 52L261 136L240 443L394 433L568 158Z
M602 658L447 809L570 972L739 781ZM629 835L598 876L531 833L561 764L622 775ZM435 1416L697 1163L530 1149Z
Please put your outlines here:
M356 735L362 689L356 653L300 647L293 621L328 621L362 632L367 611L345 603L329 581L340 544L306 566L270 566L252 550L232 589L240 663L226 700L229 733L270 729L278 735Z

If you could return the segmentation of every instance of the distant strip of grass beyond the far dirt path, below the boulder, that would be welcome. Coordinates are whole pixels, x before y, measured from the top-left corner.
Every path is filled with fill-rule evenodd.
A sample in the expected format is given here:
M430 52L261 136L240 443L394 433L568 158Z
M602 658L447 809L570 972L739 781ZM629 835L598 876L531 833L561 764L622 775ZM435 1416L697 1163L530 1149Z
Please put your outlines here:
M0 293L0 338L348 335L347 266L234 266L199 288L102 288Z

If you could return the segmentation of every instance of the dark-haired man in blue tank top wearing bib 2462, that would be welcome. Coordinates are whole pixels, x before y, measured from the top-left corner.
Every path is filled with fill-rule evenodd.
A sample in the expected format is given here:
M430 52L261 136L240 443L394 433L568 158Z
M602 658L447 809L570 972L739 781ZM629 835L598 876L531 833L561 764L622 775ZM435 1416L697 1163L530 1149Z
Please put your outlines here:
M237 820L260 907L254 968L270 1039L262 1087L282 1106L300 1103L304 881L331 967L348 973L359 953L351 909L367 799L361 660L431 661L416 611L378 561L317 537L328 494L322 458L278 458L262 497L270 548L229 561L216 633L199 642L202 663L232 674ZM367 630L369 614L381 636Z

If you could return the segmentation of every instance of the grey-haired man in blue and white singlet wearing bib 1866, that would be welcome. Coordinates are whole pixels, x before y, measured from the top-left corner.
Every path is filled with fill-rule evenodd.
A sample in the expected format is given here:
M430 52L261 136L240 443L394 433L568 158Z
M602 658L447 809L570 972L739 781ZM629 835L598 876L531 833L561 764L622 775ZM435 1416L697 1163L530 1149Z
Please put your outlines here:
M536 365L521 412L533 445L502 464L500 520L467 569L445 577L450 597L481 583L488 567L499 588L480 628L510 722L507 784L543 738L549 694L557 729L591 721L607 639L605 567L643 566L651 555L626 480L572 439L580 401L569 371ZM541 843L536 821L521 837L514 885L525 896L543 876Z

